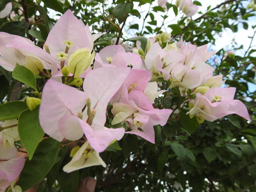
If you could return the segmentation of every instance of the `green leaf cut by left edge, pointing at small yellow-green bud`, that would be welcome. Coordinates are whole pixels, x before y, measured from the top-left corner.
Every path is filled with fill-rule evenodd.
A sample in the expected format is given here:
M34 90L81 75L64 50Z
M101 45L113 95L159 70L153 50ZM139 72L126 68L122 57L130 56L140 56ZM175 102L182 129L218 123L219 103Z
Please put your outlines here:
M0 105L0 121L17 119L20 113L28 109L27 103L23 101L12 101Z

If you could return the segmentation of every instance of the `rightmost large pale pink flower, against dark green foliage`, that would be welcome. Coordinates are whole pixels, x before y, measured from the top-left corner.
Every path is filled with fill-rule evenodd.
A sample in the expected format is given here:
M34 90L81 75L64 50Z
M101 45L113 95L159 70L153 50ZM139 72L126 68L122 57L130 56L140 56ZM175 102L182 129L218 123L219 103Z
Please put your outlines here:
M191 110L187 114L196 116L198 122L204 119L214 121L229 114L237 114L251 121L247 108L240 100L233 100L235 87L209 89L204 95L196 93L196 99L190 101Z

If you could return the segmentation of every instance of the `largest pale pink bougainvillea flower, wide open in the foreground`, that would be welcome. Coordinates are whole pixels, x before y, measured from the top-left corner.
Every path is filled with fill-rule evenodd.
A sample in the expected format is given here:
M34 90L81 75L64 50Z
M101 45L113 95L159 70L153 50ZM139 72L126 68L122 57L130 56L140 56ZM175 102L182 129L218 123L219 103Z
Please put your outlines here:
M104 124L108 102L122 86L129 72L129 68L121 67L94 69L84 78L84 92L48 80L39 111L43 130L59 141L64 137L77 140L85 134L92 148L98 152L107 148L112 140L120 140L124 129L109 129ZM87 106L82 113L85 104ZM90 116L91 109L93 117Z

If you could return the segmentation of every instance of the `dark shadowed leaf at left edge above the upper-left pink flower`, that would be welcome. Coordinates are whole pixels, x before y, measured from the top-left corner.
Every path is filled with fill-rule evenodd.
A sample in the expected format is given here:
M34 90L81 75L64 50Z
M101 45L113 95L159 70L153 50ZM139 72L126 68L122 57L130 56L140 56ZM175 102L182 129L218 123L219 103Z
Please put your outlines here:
M25 37L26 30L29 24L25 21L11 21L6 22L0 27L0 31Z

